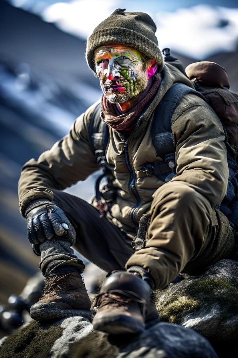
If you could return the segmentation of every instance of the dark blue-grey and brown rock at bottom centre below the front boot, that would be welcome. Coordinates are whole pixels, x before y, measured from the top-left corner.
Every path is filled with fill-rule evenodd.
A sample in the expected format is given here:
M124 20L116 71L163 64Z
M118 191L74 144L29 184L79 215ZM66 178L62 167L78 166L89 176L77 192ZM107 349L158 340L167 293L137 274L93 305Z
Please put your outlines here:
M157 323L139 335L108 336L91 332L74 344L72 358L217 357L209 342L192 329Z

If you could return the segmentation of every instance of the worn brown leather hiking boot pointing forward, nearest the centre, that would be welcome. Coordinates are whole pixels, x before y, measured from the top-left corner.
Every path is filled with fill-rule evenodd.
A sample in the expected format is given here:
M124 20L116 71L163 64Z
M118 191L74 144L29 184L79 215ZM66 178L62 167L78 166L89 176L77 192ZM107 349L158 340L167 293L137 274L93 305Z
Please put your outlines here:
M93 328L110 334L140 333L145 329L146 310L150 320L158 311L149 309L151 288L141 277L117 271L103 282L96 297ZM155 304L153 304L155 307Z

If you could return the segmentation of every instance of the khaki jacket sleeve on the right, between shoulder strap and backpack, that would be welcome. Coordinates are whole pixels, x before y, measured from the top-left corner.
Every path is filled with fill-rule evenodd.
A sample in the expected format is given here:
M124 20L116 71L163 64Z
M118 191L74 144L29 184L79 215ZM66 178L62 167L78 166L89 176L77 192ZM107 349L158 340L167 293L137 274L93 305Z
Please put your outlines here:
M178 108L172 117L172 133L177 175L171 182L181 181L212 207L219 205L226 195L229 171L225 134L216 113L205 102L182 114Z

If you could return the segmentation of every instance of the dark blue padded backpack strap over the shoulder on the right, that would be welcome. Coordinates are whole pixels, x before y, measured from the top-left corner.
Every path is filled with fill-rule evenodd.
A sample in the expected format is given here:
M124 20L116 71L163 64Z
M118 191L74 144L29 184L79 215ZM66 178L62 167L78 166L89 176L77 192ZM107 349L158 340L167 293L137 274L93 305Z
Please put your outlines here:
M203 98L195 89L178 82L168 89L155 109L151 137L156 153L163 161L145 165L142 170L148 176L155 174L168 182L176 174L171 118L181 98L188 93L194 93Z

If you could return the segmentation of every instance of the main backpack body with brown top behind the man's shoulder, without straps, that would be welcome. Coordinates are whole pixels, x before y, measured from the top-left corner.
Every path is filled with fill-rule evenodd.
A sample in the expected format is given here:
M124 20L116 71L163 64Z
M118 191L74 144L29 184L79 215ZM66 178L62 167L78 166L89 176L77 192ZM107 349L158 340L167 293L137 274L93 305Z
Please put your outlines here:
M226 70L217 63L201 61L188 65L185 72L196 90L220 118L226 135L229 179L227 193L218 209L238 231L238 95L229 91Z

